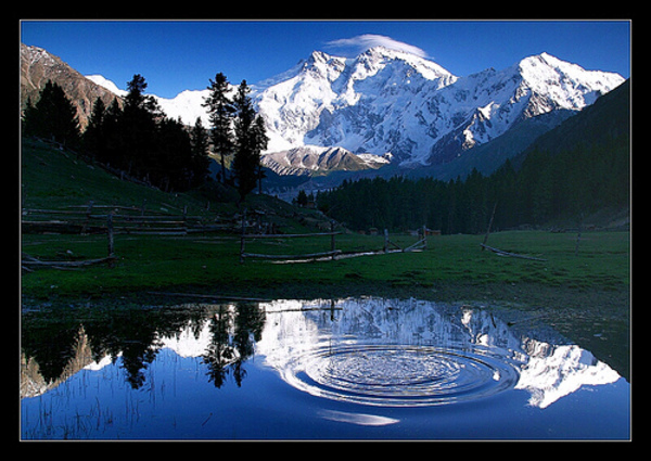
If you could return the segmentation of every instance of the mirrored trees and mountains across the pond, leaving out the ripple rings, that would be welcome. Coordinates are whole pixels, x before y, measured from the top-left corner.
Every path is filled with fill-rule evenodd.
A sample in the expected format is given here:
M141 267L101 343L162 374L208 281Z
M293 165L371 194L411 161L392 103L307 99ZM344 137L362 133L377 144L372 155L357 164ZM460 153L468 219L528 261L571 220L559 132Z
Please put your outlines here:
M66 320L67 319L67 320ZM163 348L201 357L207 380L241 385L254 354L277 370L328 344L405 345L500 350L519 363L515 388L546 408L582 385L617 381L618 374L576 345L513 332L488 309L394 299L278 300L265 304L191 305L174 309L108 312L59 323L23 321L21 396L56 387L81 369L99 370L120 358L133 388ZM58 341L54 341L58 340Z

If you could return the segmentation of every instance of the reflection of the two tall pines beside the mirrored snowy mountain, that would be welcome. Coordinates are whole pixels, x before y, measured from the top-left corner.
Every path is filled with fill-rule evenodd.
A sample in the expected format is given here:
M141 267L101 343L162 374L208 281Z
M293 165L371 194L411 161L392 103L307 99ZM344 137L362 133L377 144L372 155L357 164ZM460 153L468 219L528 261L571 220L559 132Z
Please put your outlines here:
M243 363L255 351L255 342L261 337L265 313L256 304L238 304L234 309L219 306L219 310L210 317L213 335L208 350L203 356L208 367L208 380L215 387L226 383L232 373L238 387L246 376Z

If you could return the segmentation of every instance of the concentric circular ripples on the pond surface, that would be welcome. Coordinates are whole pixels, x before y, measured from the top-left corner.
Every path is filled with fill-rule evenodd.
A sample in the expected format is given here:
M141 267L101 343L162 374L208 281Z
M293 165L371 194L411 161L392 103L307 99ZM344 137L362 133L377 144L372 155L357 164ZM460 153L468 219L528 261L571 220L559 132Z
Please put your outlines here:
M518 371L497 355L427 346L344 345L312 350L283 370L312 395L384 407L446 405L509 389Z

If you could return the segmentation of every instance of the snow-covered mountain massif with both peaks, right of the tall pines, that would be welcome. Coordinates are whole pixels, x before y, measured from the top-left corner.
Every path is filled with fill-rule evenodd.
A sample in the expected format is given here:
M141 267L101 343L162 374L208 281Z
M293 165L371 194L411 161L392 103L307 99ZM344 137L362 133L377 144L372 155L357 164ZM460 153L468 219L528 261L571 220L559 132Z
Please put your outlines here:
M582 110L624 81L547 53L456 77L416 55L372 48L355 59L314 52L255 95L269 151L304 144L391 152L403 165L449 162L518 121Z

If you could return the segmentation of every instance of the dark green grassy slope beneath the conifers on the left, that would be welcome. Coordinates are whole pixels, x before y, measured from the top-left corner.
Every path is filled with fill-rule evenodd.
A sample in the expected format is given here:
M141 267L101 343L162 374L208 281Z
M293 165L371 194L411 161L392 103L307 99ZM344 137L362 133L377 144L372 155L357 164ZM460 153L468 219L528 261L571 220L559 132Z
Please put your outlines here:
M23 209L62 209L69 206L120 205L148 212L231 219L240 213L238 193L215 181L187 193L166 193L156 188L120 180L99 164L87 163L75 152L35 140L22 140L21 200ZM286 231L314 231L319 213L295 207L269 195L251 194L244 206L266 213Z

